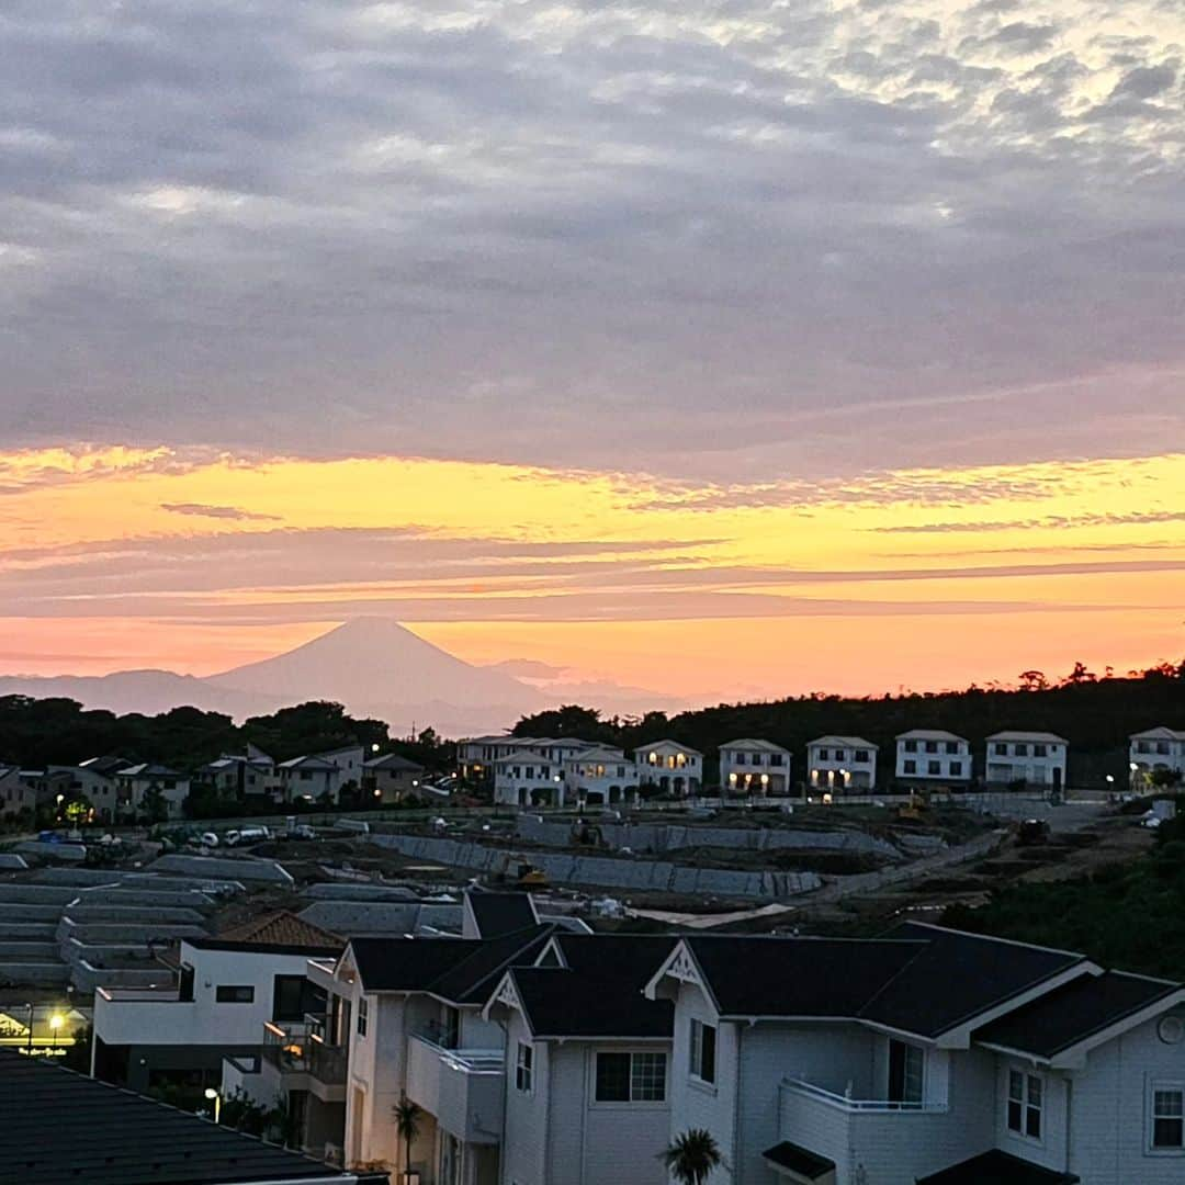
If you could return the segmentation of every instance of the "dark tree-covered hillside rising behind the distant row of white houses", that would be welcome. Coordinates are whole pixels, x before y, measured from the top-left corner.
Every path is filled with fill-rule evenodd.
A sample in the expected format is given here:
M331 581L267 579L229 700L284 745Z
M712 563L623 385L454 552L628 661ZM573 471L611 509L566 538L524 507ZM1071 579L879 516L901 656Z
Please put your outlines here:
M947 729L973 742L1005 729L1056 732L1070 742L1071 783L1088 784L1126 768L1128 737L1167 724L1185 728L1185 662L1162 664L1116 677L1083 664L1063 678L1025 671L1014 687L905 692L847 698L811 694L755 704L720 704L667 717L604 718L594 709L565 705L524 717L518 736L579 736L632 749L670 737L712 755L728 741L758 737L801 754L808 741L838 734L880 747L882 780L892 763L895 738L910 729ZM889 770L891 776L891 770Z

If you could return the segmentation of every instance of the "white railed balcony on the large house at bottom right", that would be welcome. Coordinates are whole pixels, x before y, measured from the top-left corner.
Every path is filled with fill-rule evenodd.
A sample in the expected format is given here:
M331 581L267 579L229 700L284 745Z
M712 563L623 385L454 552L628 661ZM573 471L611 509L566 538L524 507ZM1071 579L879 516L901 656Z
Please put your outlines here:
M833 1160L840 1181L860 1168L870 1181L914 1181L962 1154L966 1133L946 1102L850 1098L789 1078L780 1094L781 1139Z

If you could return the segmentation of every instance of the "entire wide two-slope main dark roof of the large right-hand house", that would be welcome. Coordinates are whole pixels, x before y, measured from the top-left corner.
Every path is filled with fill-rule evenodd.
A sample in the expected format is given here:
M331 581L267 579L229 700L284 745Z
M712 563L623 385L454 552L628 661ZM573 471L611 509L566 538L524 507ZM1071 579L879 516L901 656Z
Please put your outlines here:
M1082 955L907 922L883 939L684 940L724 1016L851 1017L936 1037Z

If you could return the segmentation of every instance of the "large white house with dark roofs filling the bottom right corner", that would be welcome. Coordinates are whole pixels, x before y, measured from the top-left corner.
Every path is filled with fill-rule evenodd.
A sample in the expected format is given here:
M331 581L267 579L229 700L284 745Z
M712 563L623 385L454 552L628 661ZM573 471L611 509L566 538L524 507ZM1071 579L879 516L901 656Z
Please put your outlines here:
M672 1135L711 1185L1168 1185L1185 989L920 923L882 940L684 937Z

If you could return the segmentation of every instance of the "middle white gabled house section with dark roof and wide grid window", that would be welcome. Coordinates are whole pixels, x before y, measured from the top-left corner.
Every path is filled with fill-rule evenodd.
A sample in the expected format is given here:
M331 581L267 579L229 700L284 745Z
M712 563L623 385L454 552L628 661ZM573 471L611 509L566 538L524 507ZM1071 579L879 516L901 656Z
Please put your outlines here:
M673 940L555 935L483 1016L506 1049L501 1185L664 1185L672 1008L642 988Z

